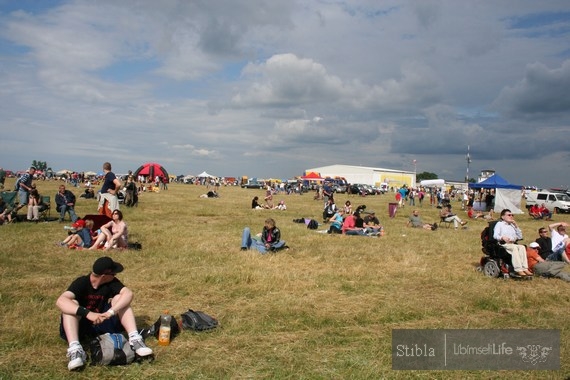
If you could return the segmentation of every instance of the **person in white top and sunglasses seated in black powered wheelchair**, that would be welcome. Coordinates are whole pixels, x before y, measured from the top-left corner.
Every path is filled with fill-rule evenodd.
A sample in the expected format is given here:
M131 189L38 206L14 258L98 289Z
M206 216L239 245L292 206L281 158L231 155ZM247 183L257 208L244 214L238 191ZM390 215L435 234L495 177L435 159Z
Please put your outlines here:
M526 247L517 244L517 241L522 240L523 236L511 210L504 209L501 211L501 220L495 225L493 238L511 255L513 270L517 275L521 277L533 275L528 268Z

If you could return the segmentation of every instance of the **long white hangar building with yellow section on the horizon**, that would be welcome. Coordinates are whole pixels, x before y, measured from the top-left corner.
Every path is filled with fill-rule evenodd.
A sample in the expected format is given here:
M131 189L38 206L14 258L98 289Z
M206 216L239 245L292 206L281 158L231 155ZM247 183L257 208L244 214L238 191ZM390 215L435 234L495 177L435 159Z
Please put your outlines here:
M306 169L305 172L317 172L321 177L344 177L348 183L363 183L373 186L380 186L381 183L387 183L389 187L401 187L403 185L415 187L416 185L416 173L405 170L330 165Z

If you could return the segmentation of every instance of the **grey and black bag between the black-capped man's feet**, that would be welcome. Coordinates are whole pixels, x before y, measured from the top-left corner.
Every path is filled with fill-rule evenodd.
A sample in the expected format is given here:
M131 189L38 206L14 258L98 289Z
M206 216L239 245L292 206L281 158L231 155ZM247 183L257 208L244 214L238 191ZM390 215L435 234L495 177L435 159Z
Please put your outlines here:
M123 334L103 334L89 344L91 365L127 365L135 359L135 352Z

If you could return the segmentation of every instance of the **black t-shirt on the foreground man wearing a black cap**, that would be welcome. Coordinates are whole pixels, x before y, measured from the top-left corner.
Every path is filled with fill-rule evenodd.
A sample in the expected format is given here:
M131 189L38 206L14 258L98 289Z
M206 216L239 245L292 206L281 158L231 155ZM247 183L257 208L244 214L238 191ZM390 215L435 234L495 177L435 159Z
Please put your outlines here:
M101 285L98 289L93 289L89 275L87 275L76 278L67 290L75 294L75 299L79 305L90 311L101 313L105 310L105 304L119 294L124 287L121 281L114 278L113 281Z

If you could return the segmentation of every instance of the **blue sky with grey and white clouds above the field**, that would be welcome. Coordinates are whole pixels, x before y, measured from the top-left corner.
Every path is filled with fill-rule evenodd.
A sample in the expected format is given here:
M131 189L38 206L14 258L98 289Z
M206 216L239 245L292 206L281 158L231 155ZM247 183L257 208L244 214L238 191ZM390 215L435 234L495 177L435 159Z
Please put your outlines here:
M0 0L0 166L570 185L570 3Z

